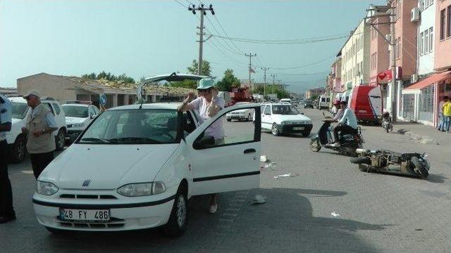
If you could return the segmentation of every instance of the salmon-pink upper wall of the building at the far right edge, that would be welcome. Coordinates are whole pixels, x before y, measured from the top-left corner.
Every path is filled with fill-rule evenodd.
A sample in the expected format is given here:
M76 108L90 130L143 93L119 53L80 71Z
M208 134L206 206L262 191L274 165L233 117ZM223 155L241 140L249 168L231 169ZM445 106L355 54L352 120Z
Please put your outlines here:
M447 37L445 29L445 39L440 40L440 11L451 5L451 0L437 0L435 2L434 67L435 70L443 70L451 67L451 37Z

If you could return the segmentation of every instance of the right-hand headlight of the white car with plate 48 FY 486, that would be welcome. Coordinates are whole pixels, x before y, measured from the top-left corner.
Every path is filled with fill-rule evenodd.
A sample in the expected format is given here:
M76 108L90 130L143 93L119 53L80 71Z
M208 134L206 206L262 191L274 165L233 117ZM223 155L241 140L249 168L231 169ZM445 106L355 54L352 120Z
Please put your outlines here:
M140 197L164 193L166 185L163 182L129 183L118 188L118 193L126 197Z

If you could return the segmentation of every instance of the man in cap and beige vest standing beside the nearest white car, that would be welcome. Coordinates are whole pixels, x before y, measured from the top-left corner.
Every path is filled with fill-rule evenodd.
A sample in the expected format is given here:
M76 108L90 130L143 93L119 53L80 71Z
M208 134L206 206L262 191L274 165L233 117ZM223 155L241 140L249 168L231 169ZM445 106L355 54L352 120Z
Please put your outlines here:
M56 147L53 132L58 129L53 113L41 103L40 97L39 91L36 90L23 96L27 100L27 105L32 108L31 113L27 115L27 123L22 131L27 135L27 150L36 179L54 160Z

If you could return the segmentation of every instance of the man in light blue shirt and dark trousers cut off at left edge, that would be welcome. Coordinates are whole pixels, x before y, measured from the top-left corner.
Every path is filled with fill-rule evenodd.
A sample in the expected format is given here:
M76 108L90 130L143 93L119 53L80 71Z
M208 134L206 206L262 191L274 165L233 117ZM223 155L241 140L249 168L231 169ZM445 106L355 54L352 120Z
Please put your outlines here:
M8 176L8 144L6 132L11 131L12 119L11 101L0 95L0 223L16 219L13 208L13 191Z

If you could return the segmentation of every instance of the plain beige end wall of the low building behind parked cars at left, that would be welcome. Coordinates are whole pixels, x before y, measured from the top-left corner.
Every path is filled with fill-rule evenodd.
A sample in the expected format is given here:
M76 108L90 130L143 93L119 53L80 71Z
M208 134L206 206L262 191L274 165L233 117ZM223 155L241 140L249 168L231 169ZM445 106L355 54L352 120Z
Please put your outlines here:
M56 100L75 100L75 82L51 74L35 74L17 79L19 94L36 89L41 96L49 96Z

